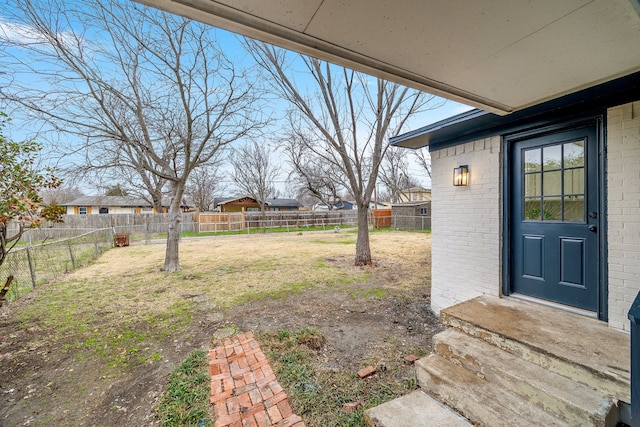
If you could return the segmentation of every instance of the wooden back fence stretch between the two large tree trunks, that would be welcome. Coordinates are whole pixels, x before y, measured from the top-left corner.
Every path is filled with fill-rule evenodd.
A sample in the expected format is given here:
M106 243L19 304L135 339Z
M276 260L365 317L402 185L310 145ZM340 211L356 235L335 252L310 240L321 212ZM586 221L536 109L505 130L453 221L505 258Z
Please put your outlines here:
M358 212L352 211L275 211L275 212L201 212L195 215L195 229L238 231L252 228L306 228L355 225Z

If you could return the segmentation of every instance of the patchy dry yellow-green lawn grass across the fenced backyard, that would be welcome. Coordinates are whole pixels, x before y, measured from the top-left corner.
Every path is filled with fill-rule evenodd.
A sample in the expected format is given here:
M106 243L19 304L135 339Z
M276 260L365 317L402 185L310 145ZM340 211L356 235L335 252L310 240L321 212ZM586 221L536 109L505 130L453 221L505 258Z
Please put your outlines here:
M107 411L102 414L104 425L107 421L123 425L124 418L119 418L120 413L108 400L104 403L111 405L108 409L100 406L102 409L91 412L85 402L86 390L104 394L118 384L121 396L131 399L132 411L144 408L135 400L140 399L139 394L128 392L128 384L144 384L149 389L161 382L157 377L140 379L140 373L156 372L157 367L175 360L180 351L208 346L214 330L207 325L216 321L207 319L216 315L222 319L226 309L239 303L285 298L313 289L316 294L324 294L324 290L330 295L346 293L353 301L384 298L392 304L395 297L389 297L391 294L428 289L428 234L373 232L375 268L353 266L355 241L356 234L351 231L184 239L180 246L182 270L174 274L160 271L163 244L115 248L91 265L12 304L4 324L7 334L15 338L5 350L20 354L21 366L41 366L42 381L60 387L54 396L30 396L30 404L41 408L43 414L62 414L64 408L60 417L79 425L102 410ZM279 307L277 303L274 306ZM11 329L12 325L18 325L19 330ZM321 342L308 344L322 346ZM12 377L5 378L7 384L17 384L16 389L26 387L22 382L30 381L26 378L31 368L25 369L14 370ZM66 372L74 375L68 387L63 378ZM392 381L392 374L392 370L385 374L389 378L381 378L381 384ZM331 376L327 387L333 389L329 382L344 382L353 373L345 375L342 379ZM401 389L406 389L402 381ZM344 399L357 397L349 394ZM381 392L383 397L390 395ZM58 420L57 415L52 417L44 424L55 424L52 420Z

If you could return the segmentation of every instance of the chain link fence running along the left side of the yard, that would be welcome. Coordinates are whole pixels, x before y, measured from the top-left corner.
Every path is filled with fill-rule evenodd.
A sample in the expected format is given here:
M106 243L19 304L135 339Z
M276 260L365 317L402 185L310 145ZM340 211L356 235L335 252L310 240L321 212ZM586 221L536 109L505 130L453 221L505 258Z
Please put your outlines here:
M34 236L32 236L33 239ZM42 241L42 239L39 239ZM32 245L29 241L14 248L0 266L4 285L13 276L6 300L11 302L61 274L75 270L113 247L113 229L92 230L79 236Z

